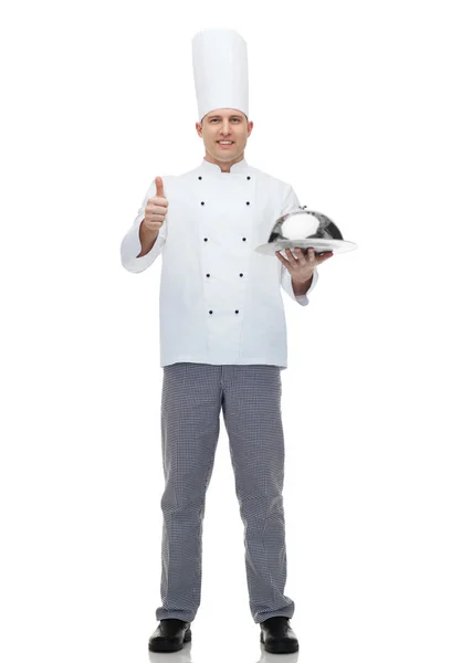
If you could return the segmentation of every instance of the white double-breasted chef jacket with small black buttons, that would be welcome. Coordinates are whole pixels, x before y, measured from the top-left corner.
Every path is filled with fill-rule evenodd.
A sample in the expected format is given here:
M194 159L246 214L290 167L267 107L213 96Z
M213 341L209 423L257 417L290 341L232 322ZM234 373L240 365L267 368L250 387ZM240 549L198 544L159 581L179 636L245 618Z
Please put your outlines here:
M141 257L139 225L155 180L120 244L128 272L147 270L161 253L160 366L270 364L287 368L281 285L294 302L292 277L276 255L255 252L276 220L298 209L293 188L243 159L222 172L206 159L179 176L161 177L168 212ZM315 287L317 270L308 293Z

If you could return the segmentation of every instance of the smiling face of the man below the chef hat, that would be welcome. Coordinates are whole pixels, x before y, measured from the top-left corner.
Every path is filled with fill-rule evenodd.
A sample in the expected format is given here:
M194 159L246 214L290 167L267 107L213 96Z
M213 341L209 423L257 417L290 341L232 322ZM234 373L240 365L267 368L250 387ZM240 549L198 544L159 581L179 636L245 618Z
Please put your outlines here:
M253 123L247 120L244 113L234 108L218 108L210 110L202 118L202 124L196 123L198 135L203 138L208 154L217 161L232 161L241 157ZM221 145L220 140L232 141Z

